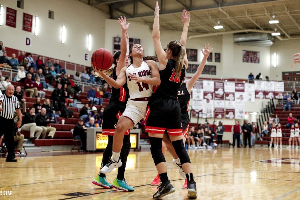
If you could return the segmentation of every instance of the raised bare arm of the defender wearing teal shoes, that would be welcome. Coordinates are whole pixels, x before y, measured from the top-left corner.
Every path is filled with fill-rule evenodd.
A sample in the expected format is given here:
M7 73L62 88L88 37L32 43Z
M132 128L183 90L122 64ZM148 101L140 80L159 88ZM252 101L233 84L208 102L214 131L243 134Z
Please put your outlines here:
M126 17L121 16L121 18L119 17L118 19L119 24L121 25L122 28L122 38L121 38L121 54L119 56L119 62L117 64L117 68L116 68L116 75L119 76L120 70L125 66L125 61L126 61L126 53L128 50L128 34L127 34L127 30L129 27L129 24L126 24ZM128 39L127 39L128 37Z

